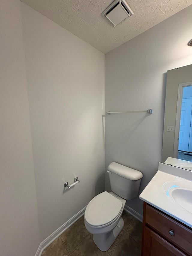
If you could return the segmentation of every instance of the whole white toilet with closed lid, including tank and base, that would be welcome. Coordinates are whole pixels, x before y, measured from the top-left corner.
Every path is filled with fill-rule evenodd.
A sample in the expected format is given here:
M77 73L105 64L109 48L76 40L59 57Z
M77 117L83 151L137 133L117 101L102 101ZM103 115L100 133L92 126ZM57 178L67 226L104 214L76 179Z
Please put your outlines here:
M140 171L115 162L107 172L113 192L98 194L85 210L85 227L101 251L107 251L123 229L121 216L126 200L137 197L143 177Z

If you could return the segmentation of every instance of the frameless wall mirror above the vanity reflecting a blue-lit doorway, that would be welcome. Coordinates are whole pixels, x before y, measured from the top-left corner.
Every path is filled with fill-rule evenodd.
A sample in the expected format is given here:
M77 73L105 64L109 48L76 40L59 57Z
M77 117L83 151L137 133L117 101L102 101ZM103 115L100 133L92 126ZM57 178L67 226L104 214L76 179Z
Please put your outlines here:
M161 159L163 163L168 157L192 162L192 125L190 125L192 102L190 101L192 101L192 65L168 70ZM190 107L186 107L186 104ZM184 127L185 123L189 123L187 128ZM182 147L184 141L186 146ZM185 165L183 168L188 169Z

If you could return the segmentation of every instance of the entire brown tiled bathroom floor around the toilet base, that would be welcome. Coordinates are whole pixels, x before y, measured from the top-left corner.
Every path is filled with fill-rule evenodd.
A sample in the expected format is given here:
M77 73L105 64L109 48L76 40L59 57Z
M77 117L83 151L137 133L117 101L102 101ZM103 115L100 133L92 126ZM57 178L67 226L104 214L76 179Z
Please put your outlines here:
M108 251L100 251L84 225L84 216L61 234L42 256L140 256L142 223L123 212L124 228Z

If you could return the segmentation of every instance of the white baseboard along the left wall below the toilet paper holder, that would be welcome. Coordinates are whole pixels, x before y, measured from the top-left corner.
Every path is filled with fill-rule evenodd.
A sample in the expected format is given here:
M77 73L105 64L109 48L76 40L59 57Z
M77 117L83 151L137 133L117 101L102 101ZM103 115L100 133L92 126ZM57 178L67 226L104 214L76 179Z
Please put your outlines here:
M74 215L70 220L65 222L61 227L59 227L57 230L55 230L50 236L48 236L41 244L39 245L39 248L35 254L35 256L41 256L43 250L47 248L55 239L57 239L67 228L69 228L73 223L75 223L79 218L82 217L82 215L85 213L85 209L87 206L85 206L82 210L77 212L76 215Z

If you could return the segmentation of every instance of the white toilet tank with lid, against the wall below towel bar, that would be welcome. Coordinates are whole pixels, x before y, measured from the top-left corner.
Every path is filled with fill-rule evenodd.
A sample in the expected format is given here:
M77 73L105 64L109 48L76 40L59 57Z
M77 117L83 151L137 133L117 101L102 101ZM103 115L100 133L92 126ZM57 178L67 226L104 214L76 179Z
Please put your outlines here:
M140 171L112 162L108 166L108 173L111 189L115 194L126 200L137 197L143 177Z

